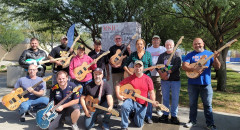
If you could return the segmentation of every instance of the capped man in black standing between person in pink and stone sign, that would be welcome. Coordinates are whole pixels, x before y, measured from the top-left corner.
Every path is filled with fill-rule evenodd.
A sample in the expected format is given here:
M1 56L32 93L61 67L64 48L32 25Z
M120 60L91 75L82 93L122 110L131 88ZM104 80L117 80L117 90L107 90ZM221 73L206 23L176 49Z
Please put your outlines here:
M102 55L105 51L102 50L102 43L100 40L94 41L94 50L88 53L88 56L90 56L92 59L96 59L100 55ZM104 56L97 62L97 67L101 68L103 70L103 78L107 79L107 81L110 79L110 72L109 72L109 66L108 66L108 57ZM107 72L107 75L106 73Z

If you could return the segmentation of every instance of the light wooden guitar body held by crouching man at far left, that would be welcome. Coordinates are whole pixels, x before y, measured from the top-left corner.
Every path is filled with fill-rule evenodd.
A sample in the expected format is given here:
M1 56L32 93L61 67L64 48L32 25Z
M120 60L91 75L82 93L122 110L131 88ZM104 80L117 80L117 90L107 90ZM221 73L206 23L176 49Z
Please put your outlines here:
M7 107L7 109L14 111L22 104L22 102L28 100L28 98L24 98L22 96L22 93L23 89L17 88L14 93L5 95L2 98L2 103Z

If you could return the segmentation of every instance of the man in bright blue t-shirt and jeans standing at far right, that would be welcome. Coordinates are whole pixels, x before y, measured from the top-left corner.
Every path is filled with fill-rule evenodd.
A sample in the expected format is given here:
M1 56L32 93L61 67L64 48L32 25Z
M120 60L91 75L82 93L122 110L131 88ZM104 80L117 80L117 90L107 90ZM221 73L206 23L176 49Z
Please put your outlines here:
M193 41L194 51L188 53L183 60L182 69L185 71L194 71L201 74L198 78L188 79L188 94L190 104L189 122L185 124L190 128L197 123L197 102L198 96L201 95L201 99L204 107L204 114L206 118L206 124L209 129L216 129L212 114L212 96L213 89L211 86L211 66L215 69L219 69L221 63L218 60L218 53L214 52L214 58L212 57L207 61L205 66L191 66L192 63L196 63L201 57L206 55L209 57L213 53L204 50L204 42L201 38L195 38Z

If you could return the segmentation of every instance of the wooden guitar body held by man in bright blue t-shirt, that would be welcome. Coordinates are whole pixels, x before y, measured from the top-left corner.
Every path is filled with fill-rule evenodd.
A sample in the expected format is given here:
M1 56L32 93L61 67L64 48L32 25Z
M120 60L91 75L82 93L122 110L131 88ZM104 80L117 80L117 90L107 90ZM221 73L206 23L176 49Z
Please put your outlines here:
M196 63L192 63L190 64L191 67L195 67L195 66L204 66L206 63L204 63L204 60L207 56L206 55L203 55L200 60L198 60ZM203 70L203 69L202 69ZM186 75L188 78L191 78L191 79L195 79L197 77L200 76L200 73L196 72L196 71L186 71Z

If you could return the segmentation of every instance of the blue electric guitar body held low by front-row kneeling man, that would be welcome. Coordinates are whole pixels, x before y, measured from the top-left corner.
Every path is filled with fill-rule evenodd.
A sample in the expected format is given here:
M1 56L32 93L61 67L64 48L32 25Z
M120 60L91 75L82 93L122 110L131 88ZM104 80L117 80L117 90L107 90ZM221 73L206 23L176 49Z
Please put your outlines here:
M50 122L58 116L58 113L51 111L53 107L54 101L51 101L46 108L37 112L36 122L41 129L47 129L50 125Z

